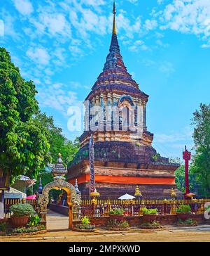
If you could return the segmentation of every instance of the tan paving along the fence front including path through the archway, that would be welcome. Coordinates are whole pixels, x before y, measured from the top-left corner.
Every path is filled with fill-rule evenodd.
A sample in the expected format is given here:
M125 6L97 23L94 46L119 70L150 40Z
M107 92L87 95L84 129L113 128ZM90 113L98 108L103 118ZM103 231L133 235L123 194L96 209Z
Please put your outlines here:
M0 236L0 242L210 242L210 226L196 227L164 226L163 229L108 231L96 229L94 233L80 233L67 229L68 217L48 212L48 232L34 236Z

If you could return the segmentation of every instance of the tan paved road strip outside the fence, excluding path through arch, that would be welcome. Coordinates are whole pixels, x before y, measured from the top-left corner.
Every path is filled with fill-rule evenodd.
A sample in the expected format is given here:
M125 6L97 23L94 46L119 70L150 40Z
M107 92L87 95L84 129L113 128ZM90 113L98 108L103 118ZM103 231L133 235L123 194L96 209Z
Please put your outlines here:
M74 231L48 231L36 236L0 237L0 242L210 242L210 231L199 226L195 230L171 229L165 230L130 230L123 232L96 229L94 233ZM1 243L0 243L1 246Z

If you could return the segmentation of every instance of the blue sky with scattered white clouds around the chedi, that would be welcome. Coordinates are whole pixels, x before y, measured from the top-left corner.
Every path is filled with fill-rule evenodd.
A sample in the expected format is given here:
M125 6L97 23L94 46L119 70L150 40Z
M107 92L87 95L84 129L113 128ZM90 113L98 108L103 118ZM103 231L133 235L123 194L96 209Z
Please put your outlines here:
M112 0L0 0L0 46L36 84L41 110L69 139L69 106L96 81L111 42ZM210 98L210 1L117 0L123 60L150 96L147 126L168 157L192 148L190 119Z

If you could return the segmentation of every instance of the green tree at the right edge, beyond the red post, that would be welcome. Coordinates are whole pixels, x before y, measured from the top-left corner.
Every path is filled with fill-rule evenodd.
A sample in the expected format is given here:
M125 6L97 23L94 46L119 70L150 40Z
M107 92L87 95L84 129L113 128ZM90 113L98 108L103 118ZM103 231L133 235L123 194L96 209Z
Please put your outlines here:
M207 197L210 196L210 104L200 104L193 115L195 156L192 168L200 181L203 196Z

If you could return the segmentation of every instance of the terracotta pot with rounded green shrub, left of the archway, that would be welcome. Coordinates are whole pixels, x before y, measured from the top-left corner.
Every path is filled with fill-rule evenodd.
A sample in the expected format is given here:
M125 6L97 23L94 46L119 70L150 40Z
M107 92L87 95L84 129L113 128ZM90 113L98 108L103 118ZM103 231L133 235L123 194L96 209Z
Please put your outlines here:
M10 207L13 215L11 216L11 222L15 227L25 226L29 222L29 217L34 215L34 208L28 203L19 203Z

